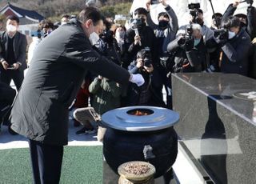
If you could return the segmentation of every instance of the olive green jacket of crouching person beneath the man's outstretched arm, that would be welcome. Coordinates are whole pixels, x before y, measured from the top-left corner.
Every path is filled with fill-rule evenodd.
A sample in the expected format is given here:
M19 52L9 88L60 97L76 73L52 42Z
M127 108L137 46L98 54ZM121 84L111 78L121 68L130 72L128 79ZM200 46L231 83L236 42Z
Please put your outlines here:
M95 78L89 86L89 91L94 94L91 105L98 114L102 115L108 110L120 107L122 89L117 82Z

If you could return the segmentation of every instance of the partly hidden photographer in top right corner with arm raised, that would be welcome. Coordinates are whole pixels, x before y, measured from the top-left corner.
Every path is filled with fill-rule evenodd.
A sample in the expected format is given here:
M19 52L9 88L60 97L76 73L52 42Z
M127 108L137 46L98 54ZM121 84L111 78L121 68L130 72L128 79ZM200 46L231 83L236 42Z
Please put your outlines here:
M253 0L246 0L246 2L250 4L250 6L247 8L247 16L246 14L235 14L234 16L239 18L242 29L245 29L250 35L250 38L253 39L256 37L256 9L254 6L252 6L254 2ZM240 0L234 0L234 3L227 7L225 13L223 14L222 20L233 16L234 11L237 10L240 3Z

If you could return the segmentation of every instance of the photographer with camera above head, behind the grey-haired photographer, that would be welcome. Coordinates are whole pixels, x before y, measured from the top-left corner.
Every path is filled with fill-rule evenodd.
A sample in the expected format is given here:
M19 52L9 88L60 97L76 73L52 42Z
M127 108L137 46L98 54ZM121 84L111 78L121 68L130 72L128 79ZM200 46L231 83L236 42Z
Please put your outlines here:
M200 9L200 4L199 3L191 3L189 5L189 9L190 9L190 24L191 23L197 23L200 26L202 26L202 36L203 36L203 40L204 42L206 42L207 40L209 40L210 38L213 37L214 31L211 30L209 27L207 27L204 22L203 22L203 12ZM185 34L186 32L186 27L188 25L185 26L181 26L178 30L177 36L179 34Z

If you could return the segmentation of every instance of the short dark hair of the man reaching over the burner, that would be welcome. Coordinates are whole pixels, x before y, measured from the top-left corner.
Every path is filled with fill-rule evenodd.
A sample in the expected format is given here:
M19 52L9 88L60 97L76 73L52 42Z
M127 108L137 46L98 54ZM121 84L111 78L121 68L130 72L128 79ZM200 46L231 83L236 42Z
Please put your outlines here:
M87 20L91 19L94 23L94 26L97 24L98 21L102 20L102 14L100 11L92 6L86 7L82 10L78 15L78 21L86 22Z

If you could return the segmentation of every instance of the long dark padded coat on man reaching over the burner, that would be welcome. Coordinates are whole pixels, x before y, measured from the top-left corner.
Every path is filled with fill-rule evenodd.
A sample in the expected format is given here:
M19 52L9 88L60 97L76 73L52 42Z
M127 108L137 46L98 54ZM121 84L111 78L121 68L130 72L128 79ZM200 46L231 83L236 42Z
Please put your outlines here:
M128 71L92 49L78 22L60 26L42 39L14 101L12 129L38 142L66 145L68 107L87 70L123 84L130 78Z

